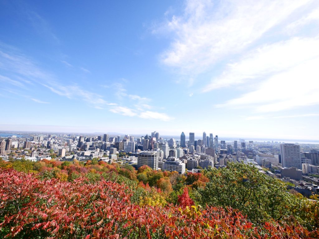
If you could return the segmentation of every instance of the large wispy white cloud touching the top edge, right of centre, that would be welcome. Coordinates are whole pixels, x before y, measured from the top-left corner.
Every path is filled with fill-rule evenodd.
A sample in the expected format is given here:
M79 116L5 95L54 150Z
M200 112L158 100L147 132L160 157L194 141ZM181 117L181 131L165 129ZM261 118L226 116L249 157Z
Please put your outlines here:
M190 76L210 70L216 62L241 52L309 2L263 0L213 3L189 0L184 14L173 16L163 27L175 33L175 38L161 60L165 65Z

